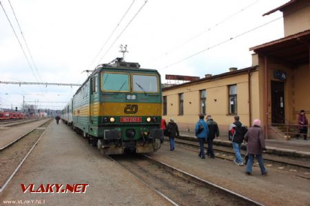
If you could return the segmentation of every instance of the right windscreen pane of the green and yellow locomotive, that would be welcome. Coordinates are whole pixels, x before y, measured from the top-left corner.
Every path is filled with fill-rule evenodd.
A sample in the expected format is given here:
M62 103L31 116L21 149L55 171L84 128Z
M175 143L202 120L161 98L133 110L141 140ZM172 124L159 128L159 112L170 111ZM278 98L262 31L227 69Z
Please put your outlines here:
M134 74L132 87L135 92L158 92L158 78L157 76Z

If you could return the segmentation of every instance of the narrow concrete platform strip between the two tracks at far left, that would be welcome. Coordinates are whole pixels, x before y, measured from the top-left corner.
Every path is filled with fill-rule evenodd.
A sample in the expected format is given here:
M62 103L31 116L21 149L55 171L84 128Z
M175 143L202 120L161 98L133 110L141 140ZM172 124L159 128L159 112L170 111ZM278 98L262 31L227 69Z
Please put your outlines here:
M35 122L21 124L19 126L2 127L0 130L0 149L7 146L12 141L19 139L23 135L30 133L32 130L49 120L50 119L42 119Z

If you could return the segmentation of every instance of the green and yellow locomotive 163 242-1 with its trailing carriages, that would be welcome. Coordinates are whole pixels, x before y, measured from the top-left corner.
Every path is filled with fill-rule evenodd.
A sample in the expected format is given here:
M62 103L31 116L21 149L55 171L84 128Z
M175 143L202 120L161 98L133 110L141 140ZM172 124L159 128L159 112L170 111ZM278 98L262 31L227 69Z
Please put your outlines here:
M96 67L61 113L106 155L154 152L163 143L161 76L116 58Z

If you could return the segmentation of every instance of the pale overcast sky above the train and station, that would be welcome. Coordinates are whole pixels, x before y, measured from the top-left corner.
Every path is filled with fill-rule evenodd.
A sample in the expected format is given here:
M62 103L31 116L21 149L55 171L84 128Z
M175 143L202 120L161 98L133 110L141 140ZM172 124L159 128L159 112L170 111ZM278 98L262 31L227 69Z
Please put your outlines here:
M206 73L226 72L229 67L249 67L249 47L282 38L283 19L213 46L282 16L281 12L262 14L287 1L10 0L10 3L37 65L37 69L32 65L37 79L82 83L87 78L82 71L121 56L118 52L121 44L128 45L127 61L139 62L143 68L158 69L162 77L166 73L203 77ZM1 0L1 3L32 63L9 1ZM118 25L128 8L129 12ZM110 41L103 47L115 27ZM0 80L36 82L2 8L0 28ZM187 58L208 47L212 48ZM21 106L23 95L26 101L68 101L76 89L0 84L0 108L8 108L11 104ZM63 106L59 103L40 105Z

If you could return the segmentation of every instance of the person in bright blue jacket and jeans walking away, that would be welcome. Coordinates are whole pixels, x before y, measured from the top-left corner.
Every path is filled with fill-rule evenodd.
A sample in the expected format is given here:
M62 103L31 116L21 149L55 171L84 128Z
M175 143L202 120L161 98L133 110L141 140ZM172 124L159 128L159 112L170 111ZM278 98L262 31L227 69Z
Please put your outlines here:
M198 138L199 145L200 145L200 152L199 152L198 156L201 159L205 159L204 144L205 144L205 139L207 139L207 137L209 135L208 126L205 123L205 121L203 120L203 118L205 118L205 115L199 115L199 120L196 123L196 127L195 127L196 137Z

